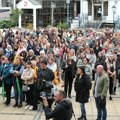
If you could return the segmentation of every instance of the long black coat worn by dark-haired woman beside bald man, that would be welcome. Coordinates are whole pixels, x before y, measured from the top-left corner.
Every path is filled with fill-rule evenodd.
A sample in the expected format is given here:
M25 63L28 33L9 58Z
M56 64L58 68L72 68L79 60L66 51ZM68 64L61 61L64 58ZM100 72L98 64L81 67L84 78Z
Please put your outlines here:
M80 79L79 75L77 75L74 86L77 102L79 103L88 102L91 86L92 86L91 80L88 75L83 74L83 76Z

